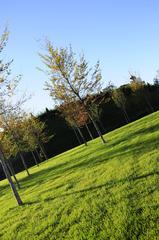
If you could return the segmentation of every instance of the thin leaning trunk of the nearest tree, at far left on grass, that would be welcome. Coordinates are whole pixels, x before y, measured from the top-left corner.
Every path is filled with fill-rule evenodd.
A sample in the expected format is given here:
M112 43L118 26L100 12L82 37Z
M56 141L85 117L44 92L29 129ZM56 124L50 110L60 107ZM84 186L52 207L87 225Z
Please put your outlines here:
M0 150L0 162L2 164L2 168L3 168L3 171L4 171L5 175L6 175L6 178L8 179L8 182L9 182L9 185L11 187L12 193L13 193L16 201L17 201L17 204L19 206L23 205L23 202L22 202L22 200L21 200L21 198L19 196L19 193L18 193L18 191L17 191L17 189L16 189L16 187L15 187L13 181L12 181L12 178L11 178L11 176L9 174L9 171L7 169L7 166L6 166L4 157L3 157L3 153L2 153L1 150Z

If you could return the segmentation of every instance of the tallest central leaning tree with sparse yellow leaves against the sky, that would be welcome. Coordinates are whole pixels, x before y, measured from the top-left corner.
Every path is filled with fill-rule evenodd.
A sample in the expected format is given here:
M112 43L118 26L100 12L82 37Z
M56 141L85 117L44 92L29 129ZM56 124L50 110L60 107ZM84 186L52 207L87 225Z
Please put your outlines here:
M77 59L71 47L58 49L54 48L50 42L46 44L46 51L47 54L40 54L50 75L50 82L46 82L46 90L58 104L80 101L98 135L105 143L89 106L85 103L87 95L95 94L101 89L102 76L99 62L94 69L89 68L84 55Z

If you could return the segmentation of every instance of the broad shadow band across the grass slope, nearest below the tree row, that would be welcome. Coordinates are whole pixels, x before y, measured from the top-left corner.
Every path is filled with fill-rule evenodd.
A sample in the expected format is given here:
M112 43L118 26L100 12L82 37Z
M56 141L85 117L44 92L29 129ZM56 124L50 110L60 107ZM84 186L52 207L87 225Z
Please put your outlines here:
M123 138L121 141L125 141L125 145L117 146L116 149L113 148L112 146L119 144L119 140L117 139L107 145L107 151L105 149L105 145L102 145L101 148L95 149L95 152L87 152L87 154L83 154L81 158L77 152L77 156L75 154L75 158L57 164L50 168L41 170L39 172L33 173L30 175L30 177L25 177L20 182L22 184L25 183L25 186L23 188L28 188L34 185L40 185L42 183L45 183L48 178L51 178L51 180L55 180L63 176L64 174L71 174L75 170L85 170L86 168L91 168L96 165L112 161L114 158L118 158L119 161L122 161L125 160L127 156L133 157L134 153L140 154L140 152L149 152L151 149L154 149L155 142L156 148L158 148L158 140L156 139L156 137L148 139L146 141L142 141L140 143L135 142L132 144L129 143L129 135L127 135L127 137Z

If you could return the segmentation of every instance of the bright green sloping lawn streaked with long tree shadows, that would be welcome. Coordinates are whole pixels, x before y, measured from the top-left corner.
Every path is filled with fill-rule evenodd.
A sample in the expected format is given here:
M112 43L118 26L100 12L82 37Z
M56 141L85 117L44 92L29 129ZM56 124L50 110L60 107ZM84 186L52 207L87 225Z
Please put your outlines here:
M1 181L0 239L159 239L159 112L105 138L18 174L22 207Z

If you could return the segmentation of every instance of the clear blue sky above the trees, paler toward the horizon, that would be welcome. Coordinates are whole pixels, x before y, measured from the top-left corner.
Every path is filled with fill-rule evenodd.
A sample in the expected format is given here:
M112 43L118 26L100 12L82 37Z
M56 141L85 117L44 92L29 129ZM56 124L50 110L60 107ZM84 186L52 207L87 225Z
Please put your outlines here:
M158 0L14 0L0 3L0 30L8 25L6 59L13 74L22 74L22 91L33 94L27 104L34 113L54 102L43 90L48 77L38 52L47 37L56 46L72 44L90 64L99 59L106 85L129 81L129 71L152 82L159 68Z

